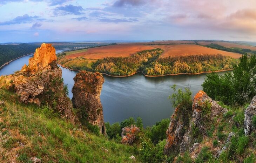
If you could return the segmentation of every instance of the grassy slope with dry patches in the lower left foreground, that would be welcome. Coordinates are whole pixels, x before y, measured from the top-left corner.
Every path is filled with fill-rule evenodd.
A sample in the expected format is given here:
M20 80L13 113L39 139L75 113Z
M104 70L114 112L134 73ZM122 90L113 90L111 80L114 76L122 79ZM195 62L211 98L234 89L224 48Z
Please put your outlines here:
M0 90L0 100L6 102L0 107L0 162L29 162L38 157L49 163L121 163L132 162L129 157L137 152L79 129L47 107L17 103L18 97L8 91Z

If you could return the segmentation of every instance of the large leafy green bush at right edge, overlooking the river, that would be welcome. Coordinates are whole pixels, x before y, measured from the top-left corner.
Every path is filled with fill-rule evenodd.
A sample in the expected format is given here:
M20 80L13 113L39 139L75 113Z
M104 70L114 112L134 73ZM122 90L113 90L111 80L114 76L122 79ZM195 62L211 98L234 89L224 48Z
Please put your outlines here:
M240 63L233 66L233 73L210 73L203 82L203 90L213 100L226 104L244 104L256 94L256 54L243 55Z

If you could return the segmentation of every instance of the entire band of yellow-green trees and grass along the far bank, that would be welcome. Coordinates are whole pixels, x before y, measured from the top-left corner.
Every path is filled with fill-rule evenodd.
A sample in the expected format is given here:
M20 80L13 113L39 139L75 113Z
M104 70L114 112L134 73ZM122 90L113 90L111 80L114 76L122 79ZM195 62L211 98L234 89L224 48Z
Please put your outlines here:
M149 76L179 73L201 73L216 70L228 70L238 60L222 54L184 55L159 57L162 49L143 50L128 57L105 57L86 59L77 57L67 59L66 54L58 56L58 62L70 69L88 70L114 76L131 75L142 71Z

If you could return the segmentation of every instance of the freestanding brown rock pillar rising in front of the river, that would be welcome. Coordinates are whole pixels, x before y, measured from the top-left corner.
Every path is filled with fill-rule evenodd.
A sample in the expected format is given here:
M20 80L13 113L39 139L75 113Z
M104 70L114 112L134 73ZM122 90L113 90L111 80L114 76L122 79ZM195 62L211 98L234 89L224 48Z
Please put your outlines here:
M104 82L102 74L81 71L76 74L74 81L73 106L80 109L81 116L85 117L90 124L99 126L100 133L105 135L106 127L100 102L100 93Z

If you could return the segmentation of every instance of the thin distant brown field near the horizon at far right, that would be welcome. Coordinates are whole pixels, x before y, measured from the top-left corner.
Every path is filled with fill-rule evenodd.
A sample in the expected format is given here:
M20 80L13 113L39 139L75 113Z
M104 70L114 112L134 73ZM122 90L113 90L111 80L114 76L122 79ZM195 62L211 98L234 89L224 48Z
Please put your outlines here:
M200 41L198 42L201 45L209 45L211 43L215 43L227 48L242 48L242 49L250 49L250 50L256 50L256 46L248 46L248 45L240 45L232 42L223 42L223 41Z

